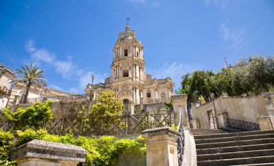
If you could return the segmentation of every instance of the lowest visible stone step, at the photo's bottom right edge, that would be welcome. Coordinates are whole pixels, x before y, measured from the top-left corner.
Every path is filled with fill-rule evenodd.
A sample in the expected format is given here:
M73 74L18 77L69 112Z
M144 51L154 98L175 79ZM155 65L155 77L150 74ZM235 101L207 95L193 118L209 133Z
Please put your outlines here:
M197 161L198 166L251 165L258 163L274 163L274 156L257 156L247 158L229 158L214 161Z

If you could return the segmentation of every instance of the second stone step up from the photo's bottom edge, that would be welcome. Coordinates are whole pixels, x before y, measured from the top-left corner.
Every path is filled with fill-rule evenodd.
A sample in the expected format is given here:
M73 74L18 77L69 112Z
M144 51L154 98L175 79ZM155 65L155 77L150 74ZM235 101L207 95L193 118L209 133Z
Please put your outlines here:
M251 150L243 152L229 152L229 153L219 153L219 154L201 154L197 155L197 161L212 161L221 160L229 158L247 158L256 156L274 156L274 149L271 150Z

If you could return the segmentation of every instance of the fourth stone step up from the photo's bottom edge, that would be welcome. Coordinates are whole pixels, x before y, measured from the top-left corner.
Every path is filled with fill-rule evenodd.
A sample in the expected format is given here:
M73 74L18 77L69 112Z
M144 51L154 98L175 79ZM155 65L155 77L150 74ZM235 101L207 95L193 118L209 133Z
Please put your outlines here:
M240 145L256 145L263 143L274 143L274 138L269 139L253 139L253 140L244 140L244 141L227 141L227 142L218 142L218 143L201 143L196 144L196 149L208 149L214 147L231 147L231 146L240 146Z

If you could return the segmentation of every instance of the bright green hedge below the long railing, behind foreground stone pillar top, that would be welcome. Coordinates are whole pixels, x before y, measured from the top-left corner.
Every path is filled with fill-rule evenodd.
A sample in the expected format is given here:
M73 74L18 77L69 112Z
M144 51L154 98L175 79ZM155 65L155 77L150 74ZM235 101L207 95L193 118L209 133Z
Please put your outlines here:
M86 165L111 165L116 163L119 153L125 149L136 149L145 156L145 139L142 136L136 140L117 139L114 136L103 136L100 138L73 137L72 134L65 136L51 135L46 130L28 129L25 132L16 131L18 138L16 146L23 145L33 139L67 143L83 147L88 151Z

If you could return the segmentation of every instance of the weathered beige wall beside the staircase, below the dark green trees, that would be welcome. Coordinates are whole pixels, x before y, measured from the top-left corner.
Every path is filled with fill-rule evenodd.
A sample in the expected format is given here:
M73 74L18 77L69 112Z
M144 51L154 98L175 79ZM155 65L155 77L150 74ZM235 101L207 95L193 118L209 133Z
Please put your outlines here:
M258 117L269 116L264 95L249 97L229 97L221 95L214 99L216 114L227 112L228 118L257 123ZM199 120L200 128L210 128L208 111L214 110L213 101L201 106L192 106L193 119Z

